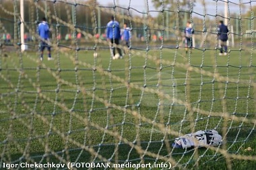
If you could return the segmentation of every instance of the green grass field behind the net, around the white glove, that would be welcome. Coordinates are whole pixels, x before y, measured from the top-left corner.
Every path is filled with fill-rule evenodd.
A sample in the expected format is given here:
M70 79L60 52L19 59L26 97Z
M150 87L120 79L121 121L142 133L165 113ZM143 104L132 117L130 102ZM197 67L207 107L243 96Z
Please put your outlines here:
M122 60L110 60L109 53L100 50L94 58L92 51L54 51L54 60L44 55L39 62L36 52L2 52L2 162L90 162L100 161L98 155L120 163L139 163L140 157L157 161L148 155L152 152L170 154L187 169L227 169L226 157L216 151L170 148L177 136L164 134L150 121L183 134L226 130L228 153L255 158L255 124L243 122L256 118L255 52L232 50L218 56L216 50L193 50L186 55L184 49L164 49L140 51ZM163 105L158 107L158 101ZM230 118L209 114L224 110ZM146 152L138 153L117 136ZM245 151L248 147L253 150ZM232 169L254 169L256 164L230 160Z

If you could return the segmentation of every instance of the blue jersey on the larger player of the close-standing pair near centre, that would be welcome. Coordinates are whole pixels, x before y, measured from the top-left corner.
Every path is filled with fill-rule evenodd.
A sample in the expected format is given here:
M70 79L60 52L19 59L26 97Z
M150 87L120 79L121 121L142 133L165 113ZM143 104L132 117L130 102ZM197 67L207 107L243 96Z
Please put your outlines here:
M108 39L120 39L121 38L121 32L120 32L120 26L119 22L116 21L110 21L106 25L106 38Z

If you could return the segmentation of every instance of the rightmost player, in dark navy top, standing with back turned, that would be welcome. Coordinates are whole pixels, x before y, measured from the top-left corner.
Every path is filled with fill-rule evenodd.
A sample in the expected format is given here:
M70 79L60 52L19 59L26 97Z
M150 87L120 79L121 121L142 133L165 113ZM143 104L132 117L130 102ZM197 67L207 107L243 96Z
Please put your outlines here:
M228 27L225 26L222 21L220 21L218 27L218 38L220 39L220 55L224 54L226 56L226 52L228 51L228 46L226 44L228 40Z

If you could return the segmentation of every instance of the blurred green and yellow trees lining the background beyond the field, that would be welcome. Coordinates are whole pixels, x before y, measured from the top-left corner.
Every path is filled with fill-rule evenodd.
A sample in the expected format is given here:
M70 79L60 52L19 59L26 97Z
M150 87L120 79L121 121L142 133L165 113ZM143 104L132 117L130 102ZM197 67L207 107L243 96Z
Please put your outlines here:
M76 2L77 4L74 4L73 1L63 0L24 0L24 21L28 28L30 28L30 30L27 28L26 32L35 32L36 24L40 22L42 17L46 16L49 24L52 26L56 26L57 19L55 17L57 17L63 22L75 24L77 28L90 34L95 34L99 30L101 33L104 33L104 27L109 21L110 16L114 14L114 11L115 17L121 24L127 22L133 26L133 35L141 34L142 36L146 36L145 33L154 34L154 30L158 30L154 24L162 26L159 27L159 30L164 29L166 36L166 31L170 32L170 34L181 34L185 27L185 22L188 20L192 20L195 23L195 30L199 30L199 32L201 32L204 26L209 27L216 22L216 19L209 19L208 17L191 18L191 9L195 6L195 1L182 0L177 3L174 0L152 0L156 9L164 9L162 13L158 13L156 16L151 16L150 14L147 16L133 15L128 9L122 9L121 7L114 9L113 5L109 5L110 7L100 7L100 3L95 0ZM20 1L1 0L0 9L1 32L11 32L13 34L15 32L14 25L19 22ZM256 26L253 25L254 13L256 13L256 7L248 9L247 12L241 15L241 19L239 19L237 13L230 13L229 23L234 26L234 32L256 30ZM100 20L98 19L99 16ZM222 18L219 17L218 19ZM97 26L101 27L96 29ZM145 32L146 27L148 29L147 32ZM60 24L59 33L65 35L71 34L71 32L66 24Z

